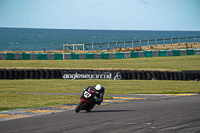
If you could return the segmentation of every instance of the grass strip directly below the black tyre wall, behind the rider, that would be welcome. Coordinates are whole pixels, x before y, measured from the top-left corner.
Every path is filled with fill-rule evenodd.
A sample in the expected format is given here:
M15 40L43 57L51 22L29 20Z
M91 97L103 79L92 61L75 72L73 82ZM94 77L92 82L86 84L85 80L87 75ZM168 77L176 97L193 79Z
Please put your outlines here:
M106 94L197 93L200 82L173 80L0 80L0 92L81 93L89 85L102 84Z

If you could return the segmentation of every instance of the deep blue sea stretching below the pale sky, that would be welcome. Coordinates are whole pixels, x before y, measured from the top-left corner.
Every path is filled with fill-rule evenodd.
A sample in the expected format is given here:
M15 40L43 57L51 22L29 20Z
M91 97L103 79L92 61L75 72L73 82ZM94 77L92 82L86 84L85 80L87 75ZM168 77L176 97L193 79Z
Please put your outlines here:
M135 47L139 46L140 40L155 40L157 44L162 44L165 38L166 44L177 43L177 38L200 36L200 31L165 31L165 30L99 30L99 29L47 29L47 28L19 28L0 27L0 50L11 51L37 51L37 50L61 50L63 44L88 44L87 49L91 50L89 44L94 45L94 50L100 50L100 44L110 43L110 49L116 48L115 42L119 42L119 47L124 47L123 42L135 41ZM167 40L168 39L168 40ZM184 42L181 39L180 42ZM193 42L194 38L189 38L188 42ZM200 37L195 39L200 42ZM131 47L127 43L126 47ZM147 42L142 41L142 46ZM149 45L155 45L150 41ZM102 50L107 50L107 45L102 45Z

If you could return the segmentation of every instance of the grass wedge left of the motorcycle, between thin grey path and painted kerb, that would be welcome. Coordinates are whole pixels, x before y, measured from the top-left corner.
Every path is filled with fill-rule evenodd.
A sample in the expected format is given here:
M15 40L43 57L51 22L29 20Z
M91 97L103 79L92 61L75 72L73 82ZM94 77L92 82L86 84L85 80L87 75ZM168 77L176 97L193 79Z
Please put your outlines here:
M80 96L65 95L43 95L43 94L16 94L3 93L0 94L0 111L51 106L57 104L78 103Z

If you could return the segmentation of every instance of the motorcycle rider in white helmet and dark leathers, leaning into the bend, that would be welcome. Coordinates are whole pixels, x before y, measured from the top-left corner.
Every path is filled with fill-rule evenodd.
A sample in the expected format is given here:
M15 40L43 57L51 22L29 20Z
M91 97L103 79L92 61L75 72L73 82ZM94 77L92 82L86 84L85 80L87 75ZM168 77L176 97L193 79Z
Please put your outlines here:
M104 96L104 91L105 91L105 88L103 86L101 86L100 84L97 84L96 86L88 86L86 89L83 90L83 92L85 90L86 91L93 90L96 92L96 94L97 94L97 97L95 97L96 104L100 105L101 102L103 102L103 96ZM83 98L83 93L82 93L81 98Z

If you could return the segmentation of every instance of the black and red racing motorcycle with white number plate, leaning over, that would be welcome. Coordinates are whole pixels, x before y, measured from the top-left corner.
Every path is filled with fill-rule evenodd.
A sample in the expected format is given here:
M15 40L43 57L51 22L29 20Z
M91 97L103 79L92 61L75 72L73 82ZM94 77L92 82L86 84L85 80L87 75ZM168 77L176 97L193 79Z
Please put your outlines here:
M80 110L86 110L90 112L96 104L97 96L96 92L93 90L84 90L83 97L77 104L75 112L78 113Z

